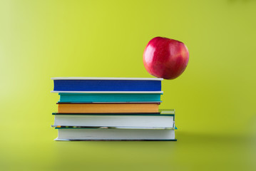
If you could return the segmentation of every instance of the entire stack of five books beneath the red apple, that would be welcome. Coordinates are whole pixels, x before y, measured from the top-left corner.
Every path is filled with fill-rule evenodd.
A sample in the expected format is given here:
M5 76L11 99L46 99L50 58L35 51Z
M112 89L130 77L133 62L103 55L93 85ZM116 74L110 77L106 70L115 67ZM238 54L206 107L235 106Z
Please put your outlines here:
M55 140L175 140L175 110L159 110L163 78L51 78Z

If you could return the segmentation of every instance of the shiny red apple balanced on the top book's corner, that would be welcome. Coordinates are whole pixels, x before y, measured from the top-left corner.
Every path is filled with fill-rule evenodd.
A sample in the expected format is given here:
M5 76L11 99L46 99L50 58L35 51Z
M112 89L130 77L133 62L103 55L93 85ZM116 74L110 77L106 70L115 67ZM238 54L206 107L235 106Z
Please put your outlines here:
M148 73L168 80L177 78L185 71L188 59L188 48L184 43L164 37L151 39L143 53Z

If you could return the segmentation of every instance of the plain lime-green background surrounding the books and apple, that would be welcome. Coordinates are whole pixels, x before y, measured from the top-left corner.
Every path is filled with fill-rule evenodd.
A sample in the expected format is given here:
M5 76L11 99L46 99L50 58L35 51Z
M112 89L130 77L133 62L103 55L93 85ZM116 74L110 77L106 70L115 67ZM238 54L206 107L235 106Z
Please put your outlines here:
M0 170L255 170L256 1L0 1ZM177 142L55 142L51 77L150 77L155 36L188 68L163 81Z

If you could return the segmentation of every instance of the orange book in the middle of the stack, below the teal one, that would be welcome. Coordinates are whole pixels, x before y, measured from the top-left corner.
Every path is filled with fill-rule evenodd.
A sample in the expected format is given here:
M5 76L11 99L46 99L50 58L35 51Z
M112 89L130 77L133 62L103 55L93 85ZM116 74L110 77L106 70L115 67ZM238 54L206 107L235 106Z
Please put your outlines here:
M57 103L58 113L158 113L159 103Z

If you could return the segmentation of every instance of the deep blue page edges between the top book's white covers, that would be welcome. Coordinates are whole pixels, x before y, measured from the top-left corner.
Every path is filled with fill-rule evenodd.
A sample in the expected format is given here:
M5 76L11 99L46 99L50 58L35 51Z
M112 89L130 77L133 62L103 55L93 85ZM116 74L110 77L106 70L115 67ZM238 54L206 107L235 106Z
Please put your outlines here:
M56 91L160 91L161 81L54 80Z

